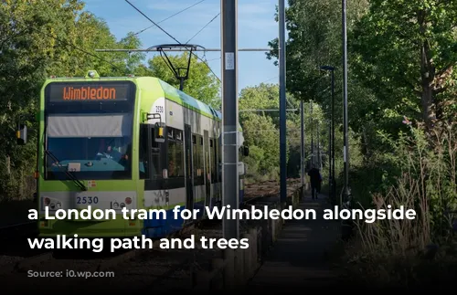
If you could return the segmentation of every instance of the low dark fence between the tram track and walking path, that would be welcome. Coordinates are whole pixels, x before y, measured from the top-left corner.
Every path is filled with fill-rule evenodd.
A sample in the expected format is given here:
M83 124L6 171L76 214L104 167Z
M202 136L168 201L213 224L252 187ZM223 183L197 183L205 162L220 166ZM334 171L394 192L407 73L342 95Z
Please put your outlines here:
M287 206L296 208L303 197L304 188L291 192ZM283 205L273 204L269 210L282 209ZM193 271L191 285L197 290L228 290L246 285L260 268L272 243L279 236L284 220L267 219L260 227L251 227L241 238L248 238L249 248L224 249L218 258L210 261L210 269Z

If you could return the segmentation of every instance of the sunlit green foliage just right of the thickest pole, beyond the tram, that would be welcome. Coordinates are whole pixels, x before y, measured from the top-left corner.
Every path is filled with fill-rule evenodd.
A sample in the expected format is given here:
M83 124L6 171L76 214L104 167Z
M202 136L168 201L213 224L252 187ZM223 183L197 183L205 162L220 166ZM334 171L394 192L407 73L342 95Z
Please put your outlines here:
M297 108L297 101L292 95L287 96L287 101L290 108ZM255 181L279 179L280 114L274 110L279 110L278 85L261 83L240 91L239 122L243 127L245 142L250 146L250 156L243 161L248 164L248 176ZM289 144L286 145L286 161L288 175L292 177L300 172L300 117L289 112L287 118L286 136Z

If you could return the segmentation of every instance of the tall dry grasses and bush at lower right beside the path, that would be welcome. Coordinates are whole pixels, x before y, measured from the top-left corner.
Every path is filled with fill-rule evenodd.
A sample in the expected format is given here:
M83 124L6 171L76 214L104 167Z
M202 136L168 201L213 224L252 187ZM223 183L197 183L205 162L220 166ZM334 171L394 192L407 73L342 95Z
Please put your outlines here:
M356 222L356 238L346 246L344 259L351 278L382 286L452 281L450 271L457 266L455 216L448 213L457 209L456 134L455 124L432 132L418 125L396 141L386 139L393 153L383 157L390 163L385 173L399 176L387 193L371 194L370 205L414 208L416 219Z

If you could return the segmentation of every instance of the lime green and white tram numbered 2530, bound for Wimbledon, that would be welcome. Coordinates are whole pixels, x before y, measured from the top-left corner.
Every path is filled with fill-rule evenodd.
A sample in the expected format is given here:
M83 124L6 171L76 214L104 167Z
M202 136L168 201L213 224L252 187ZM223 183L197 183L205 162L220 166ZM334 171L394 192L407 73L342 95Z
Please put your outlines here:
M153 77L47 79L37 144L40 237L165 237L173 208L221 205L221 113ZM23 131L24 132L24 131ZM17 134L21 138L21 131ZM242 145L239 127L239 151ZM240 157L241 158L241 157ZM239 201L245 165L239 162ZM165 209L165 219L46 220L58 209ZM117 211L119 210L119 211ZM54 213L53 213L54 211Z

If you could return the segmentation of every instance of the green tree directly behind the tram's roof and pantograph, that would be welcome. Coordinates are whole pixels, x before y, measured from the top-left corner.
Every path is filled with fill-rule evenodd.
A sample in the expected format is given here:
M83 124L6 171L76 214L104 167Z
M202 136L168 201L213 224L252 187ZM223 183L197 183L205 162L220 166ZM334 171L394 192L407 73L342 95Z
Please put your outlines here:
M187 52L177 56L168 55L168 58L175 68L187 68L189 58ZM148 64L148 68L142 67L137 69L138 75L154 76L179 89L179 80L175 78L173 71L167 66L164 58L155 56L148 60ZM221 100L219 89L220 82L211 73L207 64L198 61L196 56L192 56L188 79L185 81L183 91L193 98L220 110Z

